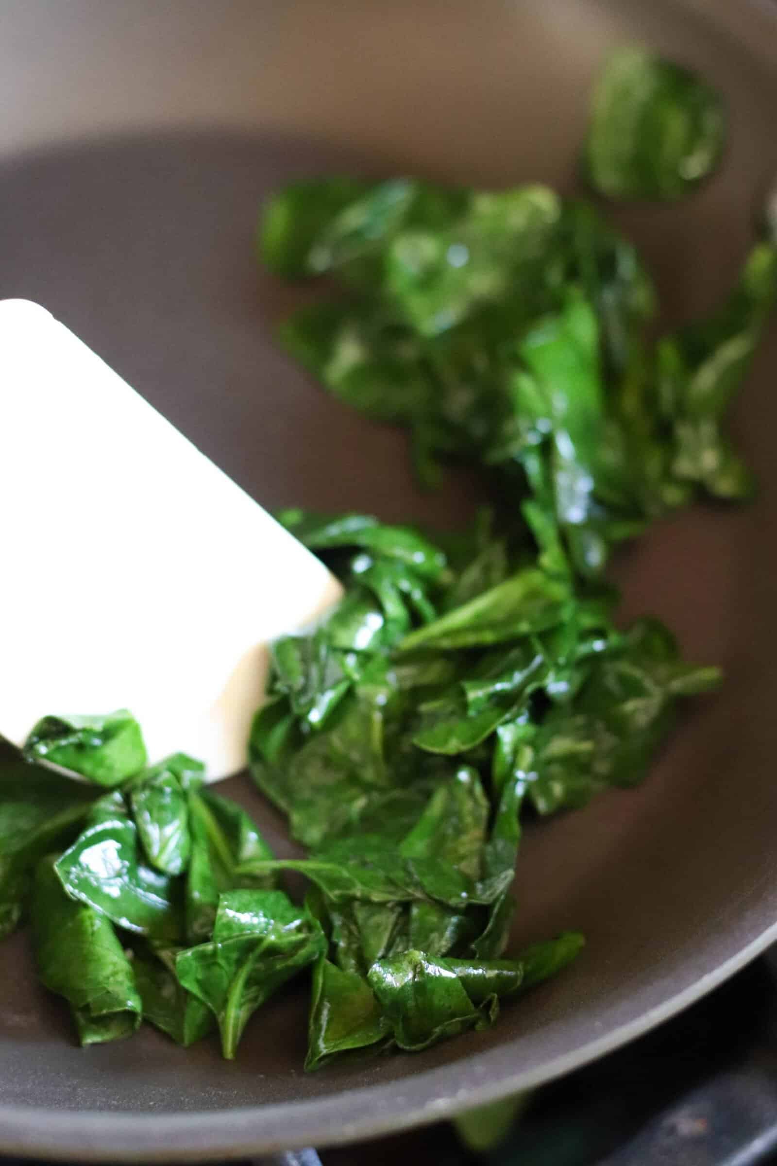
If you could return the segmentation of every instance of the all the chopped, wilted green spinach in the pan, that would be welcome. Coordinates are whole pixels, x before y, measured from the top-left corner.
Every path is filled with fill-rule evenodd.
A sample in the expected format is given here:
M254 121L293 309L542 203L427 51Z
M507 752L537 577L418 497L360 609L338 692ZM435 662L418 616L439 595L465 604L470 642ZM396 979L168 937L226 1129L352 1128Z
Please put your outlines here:
M608 198L674 199L723 138L704 82L622 50L585 175ZM657 620L620 626L603 571L654 520L751 485L726 414L777 295L770 231L720 308L671 331L634 244L546 187L334 176L273 196L262 261L335 293L281 326L287 350L404 426L423 484L467 461L495 505L437 538L280 513L344 583L324 623L273 645L248 743L304 857L275 858L193 758L148 767L126 710L45 716L23 753L0 740L0 936L29 905L83 1044L144 1018L183 1046L218 1026L233 1058L310 969L317 1069L485 1028L579 955L567 932L504 957L523 826L641 781L680 703L720 682Z

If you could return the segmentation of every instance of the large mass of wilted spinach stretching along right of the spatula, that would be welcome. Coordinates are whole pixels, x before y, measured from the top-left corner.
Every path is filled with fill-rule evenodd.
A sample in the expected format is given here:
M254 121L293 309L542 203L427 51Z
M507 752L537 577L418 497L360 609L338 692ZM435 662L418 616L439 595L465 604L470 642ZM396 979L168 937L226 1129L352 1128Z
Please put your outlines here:
M594 92L586 177L610 198L677 198L723 138L704 82L622 50ZM468 459L500 507L437 543L372 515L278 515L346 586L324 626L276 645L249 744L310 854L239 868L310 880L329 950L309 1068L482 1027L579 951L570 933L499 963L521 817L640 781L678 701L720 681L657 621L619 628L601 577L656 518L744 493L725 413L777 292L777 251L758 244L715 315L666 333L637 250L587 202L352 189L309 180L264 209L268 266L344 292L281 342L340 400L408 427L423 482Z

